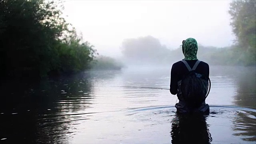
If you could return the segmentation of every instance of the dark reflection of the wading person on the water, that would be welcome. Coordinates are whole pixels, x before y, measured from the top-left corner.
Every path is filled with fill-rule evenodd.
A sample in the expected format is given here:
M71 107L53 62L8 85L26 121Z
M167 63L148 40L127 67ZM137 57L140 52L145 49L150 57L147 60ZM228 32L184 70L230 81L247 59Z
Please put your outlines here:
M202 114L177 114L171 121L172 144L209 144L212 142L206 117Z

